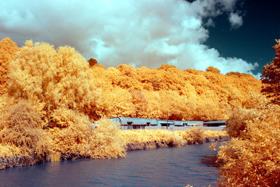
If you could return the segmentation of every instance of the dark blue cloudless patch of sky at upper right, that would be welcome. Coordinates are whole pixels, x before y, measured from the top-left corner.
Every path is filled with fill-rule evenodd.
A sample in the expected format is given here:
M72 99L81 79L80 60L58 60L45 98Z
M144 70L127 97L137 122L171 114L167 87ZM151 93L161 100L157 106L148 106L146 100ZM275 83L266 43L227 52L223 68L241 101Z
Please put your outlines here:
M216 48L223 57L239 57L246 62L258 62L253 73L262 73L262 66L275 57L272 46L280 39L280 1L239 1L243 24L230 29L226 15L215 18L215 27L209 28L207 46ZM230 44L229 44L230 43Z

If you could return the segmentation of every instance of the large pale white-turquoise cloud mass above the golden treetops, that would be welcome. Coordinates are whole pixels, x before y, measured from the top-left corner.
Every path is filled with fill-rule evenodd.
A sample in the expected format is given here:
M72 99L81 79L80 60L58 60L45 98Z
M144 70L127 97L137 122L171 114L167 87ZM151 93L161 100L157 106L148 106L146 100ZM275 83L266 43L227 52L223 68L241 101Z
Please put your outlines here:
M241 17L233 13L236 1L1 1L0 37L19 45L33 39L73 46L106 67L124 63L157 68L168 63L179 69L213 66L223 74L252 74L258 64L221 57L204 44L207 20L227 13L233 15L232 25L240 25Z

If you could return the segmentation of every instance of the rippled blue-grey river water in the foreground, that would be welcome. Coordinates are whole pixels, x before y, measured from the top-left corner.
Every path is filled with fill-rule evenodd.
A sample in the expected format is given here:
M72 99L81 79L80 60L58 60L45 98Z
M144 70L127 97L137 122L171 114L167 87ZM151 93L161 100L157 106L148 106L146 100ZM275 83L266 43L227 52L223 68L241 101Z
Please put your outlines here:
M147 151L127 158L46 162L0 171L0 186L216 186L210 143ZM206 159L207 160L207 159Z

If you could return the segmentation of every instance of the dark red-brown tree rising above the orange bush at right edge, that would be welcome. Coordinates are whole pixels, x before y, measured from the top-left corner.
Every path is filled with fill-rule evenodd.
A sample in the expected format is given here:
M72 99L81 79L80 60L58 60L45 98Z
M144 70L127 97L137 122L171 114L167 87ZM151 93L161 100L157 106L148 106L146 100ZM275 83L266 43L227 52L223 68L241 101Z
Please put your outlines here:
M262 93L267 95L267 97L272 98L272 102L275 104L280 104L280 40L275 40L276 45L273 46L276 57L263 67L262 76Z

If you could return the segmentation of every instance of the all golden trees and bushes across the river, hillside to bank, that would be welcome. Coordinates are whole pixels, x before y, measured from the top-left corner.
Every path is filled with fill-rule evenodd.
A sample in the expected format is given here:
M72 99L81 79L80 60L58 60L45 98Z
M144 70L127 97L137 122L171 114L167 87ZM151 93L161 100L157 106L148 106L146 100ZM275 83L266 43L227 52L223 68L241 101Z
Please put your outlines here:
M210 132L120 131L103 117L160 119L169 111L172 120L225 120L235 106L250 105L249 93L259 94L261 86L253 76L217 74L215 68L204 72L121 64L105 69L68 46L55 49L32 41L18 48L3 39L0 54L0 95L6 93L0 97L0 156L118 158L125 156L125 144L200 143ZM93 120L99 120L96 129Z

